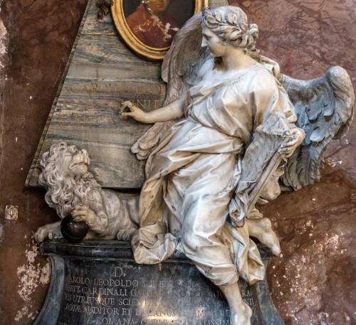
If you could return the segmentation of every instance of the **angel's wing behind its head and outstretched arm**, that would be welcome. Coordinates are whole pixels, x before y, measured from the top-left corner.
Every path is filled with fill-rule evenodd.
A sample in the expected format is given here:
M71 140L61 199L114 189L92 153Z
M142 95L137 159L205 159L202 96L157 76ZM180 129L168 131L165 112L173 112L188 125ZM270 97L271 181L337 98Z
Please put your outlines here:
M162 79L167 82L163 106L184 96L197 78L201 65L209 58L209 51L201 48L201 12L192 16L176 33L171 48L162 63ZM177 122L177 121L176 121ZM132 146L137 159L147 159L162 141L164 133L175 122L155 123Z

